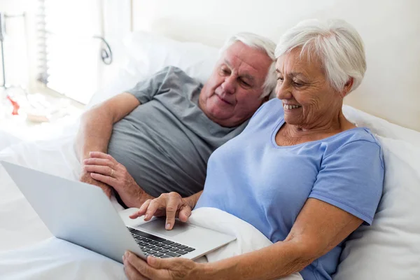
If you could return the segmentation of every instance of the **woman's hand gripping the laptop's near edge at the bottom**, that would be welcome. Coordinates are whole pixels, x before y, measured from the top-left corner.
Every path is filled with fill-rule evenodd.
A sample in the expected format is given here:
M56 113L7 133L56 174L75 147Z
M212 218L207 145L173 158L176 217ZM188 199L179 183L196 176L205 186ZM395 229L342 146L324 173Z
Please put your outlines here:
M204 264L186 258L154 258L147 261L134 253L126 252L123 256L124 271L130 280L143 279L202 279Z

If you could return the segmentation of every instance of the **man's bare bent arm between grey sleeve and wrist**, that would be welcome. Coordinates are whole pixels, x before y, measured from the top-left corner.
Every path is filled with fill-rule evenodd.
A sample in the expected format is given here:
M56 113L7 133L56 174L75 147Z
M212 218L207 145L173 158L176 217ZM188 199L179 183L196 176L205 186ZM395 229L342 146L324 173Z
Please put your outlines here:
M113 125L139 105L140 102L134 95L125 92L86 111L81 118L76 138L80 162L90 158L91 151L106 153Z

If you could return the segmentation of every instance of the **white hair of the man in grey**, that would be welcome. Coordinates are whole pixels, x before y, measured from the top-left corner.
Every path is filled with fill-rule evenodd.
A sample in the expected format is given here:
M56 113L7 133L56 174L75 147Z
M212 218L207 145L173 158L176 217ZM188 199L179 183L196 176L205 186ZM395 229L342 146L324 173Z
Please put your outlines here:
M269 66L267 76L265 77L264 85L262 85L261 98L271 95L274 97L274 88L276 87L276 57L274 56L274 50L276 49L276 43L269 38L260 36L249 32L241 32L228 38L223 47L220 50L220 54L223 54L233 43L240 41L248 47L262 50L272 59L272 64ZM270 97L270 98L271 98Z

